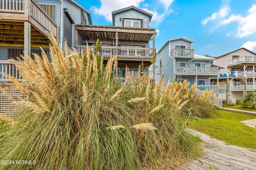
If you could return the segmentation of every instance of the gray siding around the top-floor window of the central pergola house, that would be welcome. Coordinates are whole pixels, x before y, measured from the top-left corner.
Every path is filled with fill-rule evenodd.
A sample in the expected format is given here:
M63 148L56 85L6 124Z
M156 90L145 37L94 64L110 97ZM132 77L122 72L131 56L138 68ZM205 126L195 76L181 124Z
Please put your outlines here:
M122 18L121 21L120 18ZM143 20L143 27L149 28L149 17L133 9L116 14L114 17L115 25L113 26L123 26L123 18Z

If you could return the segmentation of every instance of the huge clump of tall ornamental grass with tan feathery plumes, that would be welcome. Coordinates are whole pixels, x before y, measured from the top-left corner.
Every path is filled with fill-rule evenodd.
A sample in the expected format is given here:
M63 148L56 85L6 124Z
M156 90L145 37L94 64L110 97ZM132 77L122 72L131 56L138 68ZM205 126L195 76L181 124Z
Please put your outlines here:
M117 57L98 66L88 47L81 57L51 41L51 62L44 52L34 61L12 60L24 81L9 77L28 98L14 102L23 108L0 133L0 160L35 164L0 164L1 170L162 170L201 152L180 115L194 85L153 87L146 74L134 78L128 69L120 85Z

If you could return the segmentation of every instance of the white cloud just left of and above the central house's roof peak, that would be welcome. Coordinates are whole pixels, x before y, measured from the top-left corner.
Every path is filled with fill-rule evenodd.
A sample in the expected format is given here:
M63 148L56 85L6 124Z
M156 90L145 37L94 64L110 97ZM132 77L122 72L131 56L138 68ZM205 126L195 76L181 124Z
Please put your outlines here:
M102 15L107 21L112 21L112 11L126 8L128 6L138 7L144 0L100 0L100 8L93 7L93 12Z

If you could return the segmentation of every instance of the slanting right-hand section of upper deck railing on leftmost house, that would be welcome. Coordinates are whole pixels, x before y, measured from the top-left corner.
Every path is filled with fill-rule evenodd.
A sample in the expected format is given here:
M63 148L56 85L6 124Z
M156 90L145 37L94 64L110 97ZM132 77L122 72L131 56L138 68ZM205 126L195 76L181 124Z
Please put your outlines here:
M48 31L57 36L58 25L48 16L44 9L35 1L31 0L30 15L39 23L41 23Z

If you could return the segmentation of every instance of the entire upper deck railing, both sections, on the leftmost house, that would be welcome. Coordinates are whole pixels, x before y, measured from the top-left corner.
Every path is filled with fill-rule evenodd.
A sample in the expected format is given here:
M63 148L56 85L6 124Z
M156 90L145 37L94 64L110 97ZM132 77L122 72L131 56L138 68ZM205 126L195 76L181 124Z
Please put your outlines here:
M29 17L36 20L49 32L53 33L56 37L58 36L58 25L48 16L44 9L36 2L36 0L1 0L0 1L0 12L7 13L25 13L26 7L24 1L28 1L30 6ZM37 25L35 25L37 27Z

